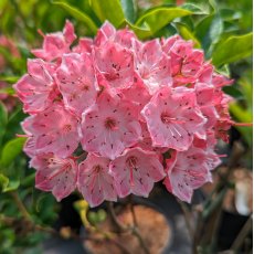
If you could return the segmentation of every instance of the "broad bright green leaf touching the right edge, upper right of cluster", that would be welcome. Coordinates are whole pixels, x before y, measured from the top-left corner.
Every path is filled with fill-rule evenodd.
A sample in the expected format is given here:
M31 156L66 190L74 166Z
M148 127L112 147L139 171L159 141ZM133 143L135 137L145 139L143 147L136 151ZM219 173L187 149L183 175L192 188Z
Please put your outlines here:
M219 43L212 54L212 62L216 66L225 63L236 62L252 55L253 33L231 36Z

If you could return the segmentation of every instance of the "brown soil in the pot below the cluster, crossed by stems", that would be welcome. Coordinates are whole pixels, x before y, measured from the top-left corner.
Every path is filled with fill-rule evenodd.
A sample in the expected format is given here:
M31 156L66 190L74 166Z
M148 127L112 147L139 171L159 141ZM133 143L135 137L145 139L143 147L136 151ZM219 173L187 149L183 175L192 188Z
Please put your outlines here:
M138 230L150 252L150 254L160 254L169 244L172 232L167 219L160 212L145 207L135 205L135 214L137 218ZM133 214L129 209L125 209L117 215L118 220L125 225L133 225ZM114 231L115 227L109 219L99 225L103 231ZM130 232L125 232L115 235L115 241L120 243L131 254L144 254L144 250L136 236ZM112 241L86 241L85 247L93 254L123 254L116 243Z

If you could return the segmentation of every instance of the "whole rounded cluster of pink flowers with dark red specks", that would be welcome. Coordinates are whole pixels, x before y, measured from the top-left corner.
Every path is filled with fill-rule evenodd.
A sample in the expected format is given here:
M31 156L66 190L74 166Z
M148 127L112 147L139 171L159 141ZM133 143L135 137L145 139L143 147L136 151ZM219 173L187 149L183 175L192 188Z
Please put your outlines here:
M219 163L232 125L222 92L232 82L179 35L140 42L105 22L76 40L71 22L44 35L15 91L30 116L24 151L36 188L56 199L76 188L91 207L163 180L191 201Z

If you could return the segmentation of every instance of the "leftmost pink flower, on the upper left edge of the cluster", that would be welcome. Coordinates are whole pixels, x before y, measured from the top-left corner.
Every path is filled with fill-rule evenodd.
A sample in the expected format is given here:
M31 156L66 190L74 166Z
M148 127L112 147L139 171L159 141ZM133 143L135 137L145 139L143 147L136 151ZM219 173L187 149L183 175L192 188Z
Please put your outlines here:
M51 75L54 67L42 60L28 61L28 74L14 85L25 113L42 112L57 97L56 85Z

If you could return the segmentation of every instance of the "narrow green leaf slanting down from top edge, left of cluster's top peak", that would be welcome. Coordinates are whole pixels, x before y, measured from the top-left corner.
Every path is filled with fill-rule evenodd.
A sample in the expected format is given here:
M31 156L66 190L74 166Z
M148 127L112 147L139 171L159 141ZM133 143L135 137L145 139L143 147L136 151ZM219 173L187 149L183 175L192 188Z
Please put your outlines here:
M78 9L61 1L53 1L53 3L66 10L73 18L84 22L93 34L97 32L97 27L94 21Z

